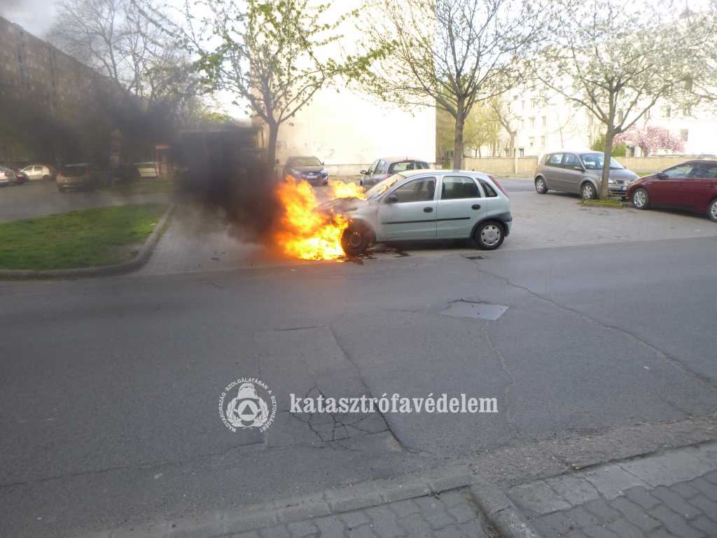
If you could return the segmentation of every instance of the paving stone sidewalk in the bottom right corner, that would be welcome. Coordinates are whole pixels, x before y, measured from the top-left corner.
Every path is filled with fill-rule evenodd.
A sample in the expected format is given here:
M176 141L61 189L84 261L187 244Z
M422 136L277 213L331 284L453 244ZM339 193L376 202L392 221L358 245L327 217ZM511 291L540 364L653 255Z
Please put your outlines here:
M544 538L717 537L717 443L587 468L507 494Z

